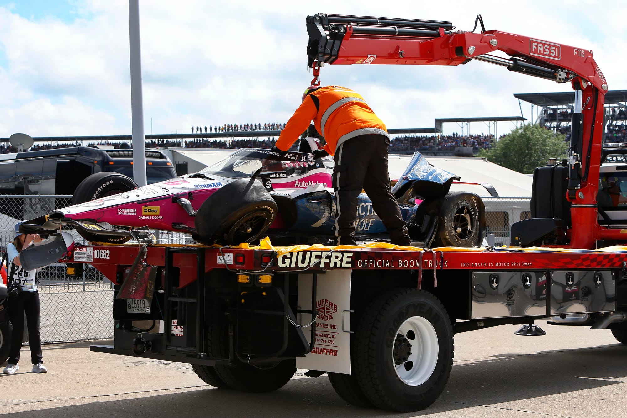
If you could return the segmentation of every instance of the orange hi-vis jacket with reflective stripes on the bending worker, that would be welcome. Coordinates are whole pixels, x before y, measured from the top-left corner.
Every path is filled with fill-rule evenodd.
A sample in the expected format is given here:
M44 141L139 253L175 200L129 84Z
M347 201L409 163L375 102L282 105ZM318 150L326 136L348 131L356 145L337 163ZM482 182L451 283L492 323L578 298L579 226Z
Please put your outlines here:
M311 121L314 121L315 129L327 141L324 149L331 155L335 154L335 149L342 142L352 137L365 134L389 137L385 124L361 95L350 88L327 85L305 97L281 131L277 148L281 151L290 149Z

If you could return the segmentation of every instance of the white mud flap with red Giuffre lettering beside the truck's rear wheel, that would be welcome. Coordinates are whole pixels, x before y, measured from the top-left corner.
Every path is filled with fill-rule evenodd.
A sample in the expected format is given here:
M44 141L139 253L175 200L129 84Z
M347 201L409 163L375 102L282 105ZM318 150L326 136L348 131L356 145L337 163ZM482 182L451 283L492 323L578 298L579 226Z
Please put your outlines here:
M316 290L315 345L305 357L296 358L296 367L350 374L350 270L327 271L318 275ZM298 306L310 309L312 275L298 275ZM313 307L312 307L313 308ZM302 325L312 321L310 314L299 315ZM307 341L309 328L303 329Z

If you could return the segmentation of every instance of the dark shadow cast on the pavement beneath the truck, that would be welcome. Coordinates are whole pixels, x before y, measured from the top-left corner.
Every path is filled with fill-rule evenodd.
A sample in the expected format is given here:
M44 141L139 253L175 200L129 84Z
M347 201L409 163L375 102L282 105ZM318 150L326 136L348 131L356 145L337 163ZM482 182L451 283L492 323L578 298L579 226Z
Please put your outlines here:
M295 379L270 394L201 389L125 400L94 398L83 405L8 414L9 417L415 417L624 383L627 346L606 345L534 355L503 354L455 364L445 391L421 412L394 414L345 404L327 377ZM114 371L112 370L112 373ZM138 385L137 390L141 390ZM624 390L624 389L622 389ZM79 394L77 394L79 395ZM9 412L8 407L3 410Z

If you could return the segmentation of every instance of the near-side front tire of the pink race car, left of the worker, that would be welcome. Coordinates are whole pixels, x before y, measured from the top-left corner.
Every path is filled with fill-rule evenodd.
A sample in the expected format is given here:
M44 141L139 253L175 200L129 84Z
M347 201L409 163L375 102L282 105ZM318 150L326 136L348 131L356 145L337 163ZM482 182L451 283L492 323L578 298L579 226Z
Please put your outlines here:
M277 213L277 203L260 180L228 183L196 213L196 231L206 245L238 245L259 240Z

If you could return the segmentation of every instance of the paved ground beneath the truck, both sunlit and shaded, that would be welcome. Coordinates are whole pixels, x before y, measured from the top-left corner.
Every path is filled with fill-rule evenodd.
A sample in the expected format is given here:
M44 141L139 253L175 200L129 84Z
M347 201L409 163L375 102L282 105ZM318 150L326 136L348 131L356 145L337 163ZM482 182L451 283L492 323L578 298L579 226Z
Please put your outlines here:
M303 376L271 394L205 385L189 365L45 346L50 372L31 373L28 347L15 375L0 375L0 414L11 417L627 417L627 345L609 330L548 326L517 336L505 325L456 335L440 399L395 414L347 405L326 375ZM99 342L100 343L100 342Z

